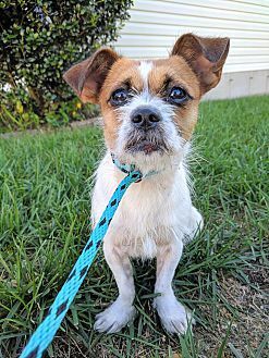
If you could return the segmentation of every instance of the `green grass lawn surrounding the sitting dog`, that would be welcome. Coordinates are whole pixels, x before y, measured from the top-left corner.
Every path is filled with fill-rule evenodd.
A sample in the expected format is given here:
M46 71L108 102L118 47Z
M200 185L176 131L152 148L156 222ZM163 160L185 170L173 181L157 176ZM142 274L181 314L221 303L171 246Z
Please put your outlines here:
M99 252L48 357L267 357L268 113L266 97L201 104L191 168L206 225L174 280L194 310L193 334L161 329L150 298L155 262L134 262L135 322L95 333L95 314L117 297ZM17 357L88 237L100 138L88 127L1 139L0 357Z

